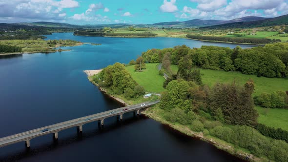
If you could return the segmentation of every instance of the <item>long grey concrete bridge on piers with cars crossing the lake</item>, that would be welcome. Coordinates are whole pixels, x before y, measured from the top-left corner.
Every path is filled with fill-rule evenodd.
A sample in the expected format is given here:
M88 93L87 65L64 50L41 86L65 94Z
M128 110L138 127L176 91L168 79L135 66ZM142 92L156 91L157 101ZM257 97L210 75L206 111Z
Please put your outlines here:
M29 131L18 133L12 136L3 137L0 139L0 147L10 145L13 143L17 143L17 142L25 142L26 147L30 147L30 140L32 140L33 138L52 133L53 138L58 139L58 132L64 129L77 127L78 132L82 132L82 125L86 123L98 121L98 123L101 123L101 125L104 125L104 120L106 118L113 117L113 116L117 116L117 118L120 117L120 120L122 120L124 113L134 111L134 113L137 112L137 114L139 115L141 109L147 108L158 102L160 101L157 100L157 101L144 102L145 103L144 106L143 105L141 106L142 103L136 104L136 105L125 106L125 107L121 107L121 108L117 108L117 109L113 109L109 111L104 111L102 113L93 114L93 115L85 116L82 118L77 118L74 120L64 121L64 122L60 122L57 124L41 127L38 129L29 130ZM48 129L48 130L43 132L43 130L45 129Z

